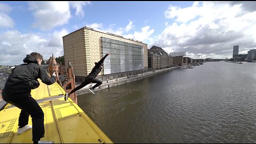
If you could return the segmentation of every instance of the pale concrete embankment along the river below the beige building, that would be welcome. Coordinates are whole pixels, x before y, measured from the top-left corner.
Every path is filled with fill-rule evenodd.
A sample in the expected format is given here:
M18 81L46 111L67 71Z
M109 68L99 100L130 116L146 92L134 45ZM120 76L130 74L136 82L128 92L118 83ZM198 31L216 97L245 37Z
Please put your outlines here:
M139 81L143 78L148 78L148 77L151 77L151 76L166 73L167 71L170 71L170 70L173 70L173 69L176 69L176 68L177 67L166 68L166 69L161 69L161 70L149 71L147 73L142 73L142 74L138 74L138 75L130 75L130 76L127 76L127 77L111 79L109 81L102 82L102 84L98 88L95 88L94 91L108 89L109 87L114 87L114 86L117 86L117 85L131 83L131 82L134 82L134 81ZM88 89L93 85L95 85L95 84L91 83L89 85L86 85L82 89L76 91L76 95L78 96L78 95L82 95L82 94L85 94L85 93L89 93L90 91Z

